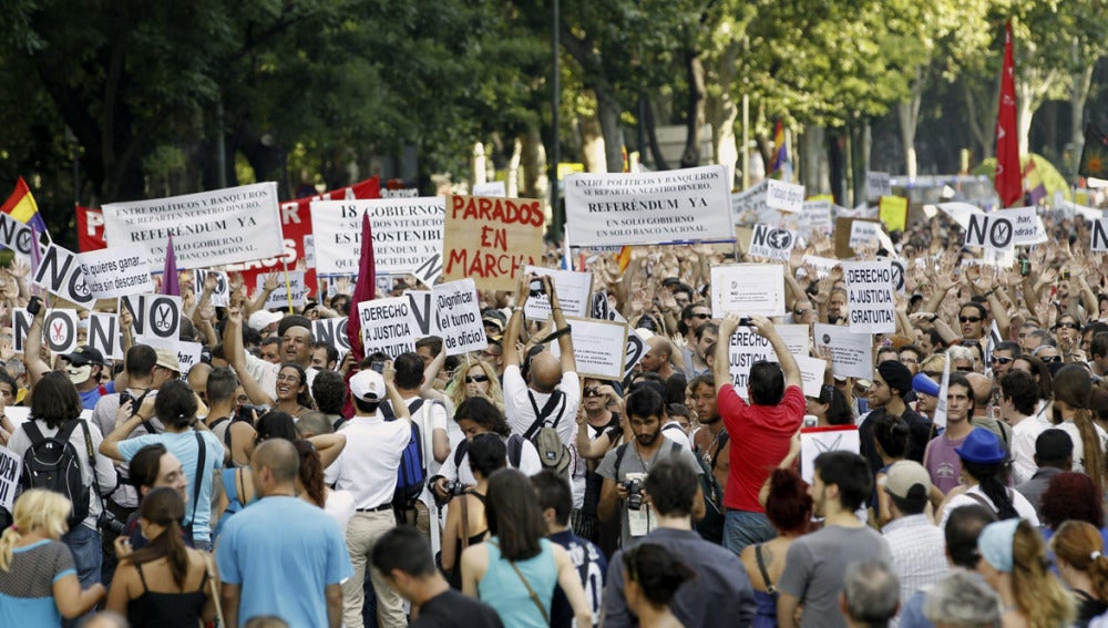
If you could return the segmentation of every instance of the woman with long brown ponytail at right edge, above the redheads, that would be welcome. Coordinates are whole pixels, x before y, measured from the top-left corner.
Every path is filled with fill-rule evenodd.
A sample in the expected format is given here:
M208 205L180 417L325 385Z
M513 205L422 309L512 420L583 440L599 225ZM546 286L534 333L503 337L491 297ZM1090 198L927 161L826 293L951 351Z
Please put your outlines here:
M1089 371L1076 364L1064 367L1054 375L1053 385L1054 422L1074 441L1073 471L1087 474L1102 492L1108 432L1092 421Z

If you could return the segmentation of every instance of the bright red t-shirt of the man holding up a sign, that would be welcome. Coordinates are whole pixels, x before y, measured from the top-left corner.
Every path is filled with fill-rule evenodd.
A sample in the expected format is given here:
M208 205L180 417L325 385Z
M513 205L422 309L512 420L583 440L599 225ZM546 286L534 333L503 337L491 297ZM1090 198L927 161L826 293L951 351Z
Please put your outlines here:
M749 405L735 387L725 385L717 395L717 408L731 443L731 473L724 488L724 505L765 513L758 492L789 453L789 442L804 419L804 393L800 387L790 385L777 405Z

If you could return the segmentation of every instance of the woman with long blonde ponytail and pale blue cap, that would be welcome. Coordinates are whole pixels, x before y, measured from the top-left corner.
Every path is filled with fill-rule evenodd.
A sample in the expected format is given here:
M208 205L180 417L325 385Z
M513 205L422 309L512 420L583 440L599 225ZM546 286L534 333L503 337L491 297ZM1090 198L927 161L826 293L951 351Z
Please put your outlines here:
M1043 537L1024 519L985 526L977 572L1004 603L1006 628L1057 628L1074 619L1074 599L1050 573Z

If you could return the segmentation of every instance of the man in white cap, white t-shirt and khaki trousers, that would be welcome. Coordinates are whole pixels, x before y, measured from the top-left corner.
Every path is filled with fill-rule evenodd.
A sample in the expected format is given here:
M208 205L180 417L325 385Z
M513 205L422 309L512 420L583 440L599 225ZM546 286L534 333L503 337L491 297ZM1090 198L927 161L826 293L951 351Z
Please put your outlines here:
M366 369L350 378L350 400L355 415L342 426L347 445L327 467L325 480L339 491L349 491L355 498L355 515L347 526L347 549L353 576L342 583L342 619L347 628L361 628L362 589L369 570L377 594L378 625L382 628L408 625L403 598L388 581L368 565L377 541L396 527L392 496L397 488L400 456L411 440L411 416L408 404L392 385L392 364L386 369L388 381L377 371ZM378 405L389 398L396 421L384 421Z

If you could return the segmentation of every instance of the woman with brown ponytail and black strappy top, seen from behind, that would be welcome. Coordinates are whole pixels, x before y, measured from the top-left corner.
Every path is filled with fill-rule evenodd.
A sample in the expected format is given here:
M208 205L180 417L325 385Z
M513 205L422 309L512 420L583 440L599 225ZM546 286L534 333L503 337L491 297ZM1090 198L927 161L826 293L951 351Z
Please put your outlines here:
M138 506L138 517L150 545L131 552L125 538L116 543L120 566L107 609L126 615L132 628L195 628L202 620L212 621L218 575L206 554L182 539L184 500L173 488L155 488Z

